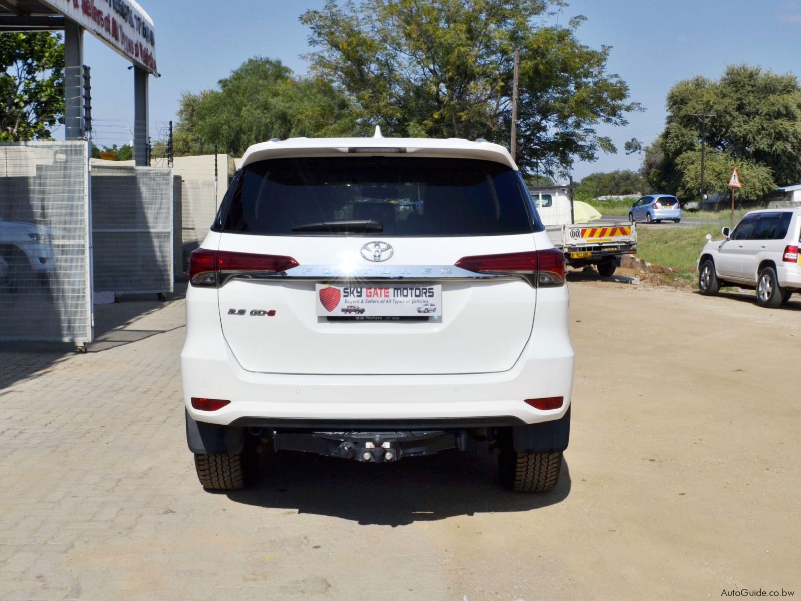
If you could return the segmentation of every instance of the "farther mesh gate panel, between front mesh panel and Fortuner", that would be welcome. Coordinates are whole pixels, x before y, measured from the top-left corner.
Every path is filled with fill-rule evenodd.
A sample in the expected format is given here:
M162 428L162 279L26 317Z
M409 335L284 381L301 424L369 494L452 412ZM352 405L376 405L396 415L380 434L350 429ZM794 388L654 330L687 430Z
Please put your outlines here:
M91 171L95 290L173 291L172 170Z

